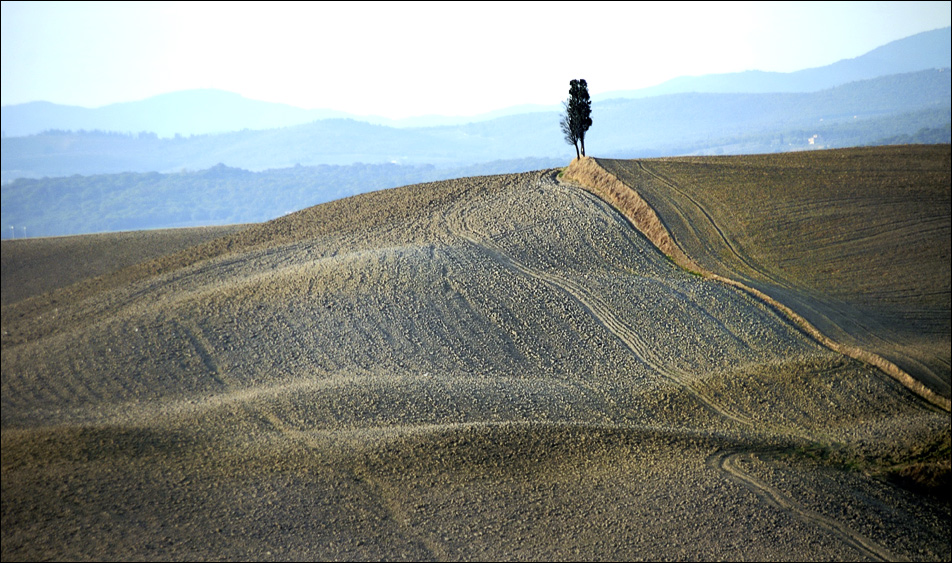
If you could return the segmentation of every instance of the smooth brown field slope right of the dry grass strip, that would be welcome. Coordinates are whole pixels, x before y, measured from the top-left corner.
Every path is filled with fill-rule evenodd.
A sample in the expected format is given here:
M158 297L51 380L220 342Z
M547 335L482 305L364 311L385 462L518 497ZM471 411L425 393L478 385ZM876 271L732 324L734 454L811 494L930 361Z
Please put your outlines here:
M599 160L701 267L764 291L946 399L950 162L948 145Z

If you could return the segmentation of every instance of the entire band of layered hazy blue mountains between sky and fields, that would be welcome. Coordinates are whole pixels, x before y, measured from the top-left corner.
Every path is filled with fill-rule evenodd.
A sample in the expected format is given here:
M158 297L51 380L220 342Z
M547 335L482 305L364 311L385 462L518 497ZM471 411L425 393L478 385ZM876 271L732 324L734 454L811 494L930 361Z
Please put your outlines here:
M950 44L945 28L818 69L596 96L586 147L628 159L950 143ZM23 229L5 237L259 222L366 191L553 168L575 156L561 113L520 106L394 123L208 90L98 110L10 106L0 224ZM27 130L28 115L42 115L29 127L47 120L45 132L11 135L8 123ZM227 132L197 133L214 130Z

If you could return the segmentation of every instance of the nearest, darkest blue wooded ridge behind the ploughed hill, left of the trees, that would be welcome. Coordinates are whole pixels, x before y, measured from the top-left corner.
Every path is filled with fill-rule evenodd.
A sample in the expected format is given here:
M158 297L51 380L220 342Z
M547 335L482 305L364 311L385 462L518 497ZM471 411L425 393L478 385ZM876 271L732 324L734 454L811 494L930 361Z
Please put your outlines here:
M564 166L520 159L460 168L352 164L18 179L2 189L3 238L261 222L351 195L449 178ZM16 229L11 230L11 227Z

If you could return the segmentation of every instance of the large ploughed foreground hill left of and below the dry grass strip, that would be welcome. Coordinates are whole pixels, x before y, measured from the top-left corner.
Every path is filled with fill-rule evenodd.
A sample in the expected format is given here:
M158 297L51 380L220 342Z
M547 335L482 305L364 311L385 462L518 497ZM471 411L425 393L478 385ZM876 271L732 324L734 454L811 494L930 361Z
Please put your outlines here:
M557 172L5 301L3 560L949 558L947 412Z

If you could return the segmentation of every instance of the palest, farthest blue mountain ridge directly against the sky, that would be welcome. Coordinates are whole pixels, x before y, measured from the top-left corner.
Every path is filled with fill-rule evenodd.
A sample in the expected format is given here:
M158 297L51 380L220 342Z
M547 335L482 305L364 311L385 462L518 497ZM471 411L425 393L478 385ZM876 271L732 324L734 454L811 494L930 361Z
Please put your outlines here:
M937 29L893 41L860 57L825 67L790 73L747 71L681 77L650 88L602 93L593 96L593 100L648 98L688 92L816 92L858 80L950 67L950 44L952 28ZM94 109L49 102L4 106L0 115L0 129L7 137L35 135L51 129L133 134L149 132L159 137L174 137L176 134L191 136L245 129L275 129L332 118L408 128L464 125L525 113L558 111L561 111L558 104L521 105L476 116L421 116L391 120L331 109L307 110L287 104L249 100L221 90L190 90Z

